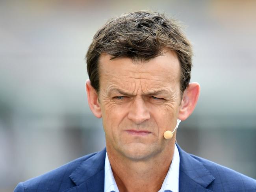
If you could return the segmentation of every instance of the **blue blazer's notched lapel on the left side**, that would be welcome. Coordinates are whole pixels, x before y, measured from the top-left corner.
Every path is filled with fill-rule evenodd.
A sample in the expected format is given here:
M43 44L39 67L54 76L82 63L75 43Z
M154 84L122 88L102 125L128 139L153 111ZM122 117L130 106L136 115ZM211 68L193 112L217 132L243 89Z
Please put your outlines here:
M106 148L82 162L82 164L69 175L76 184L67 192L102 192L104 191L104 165Z

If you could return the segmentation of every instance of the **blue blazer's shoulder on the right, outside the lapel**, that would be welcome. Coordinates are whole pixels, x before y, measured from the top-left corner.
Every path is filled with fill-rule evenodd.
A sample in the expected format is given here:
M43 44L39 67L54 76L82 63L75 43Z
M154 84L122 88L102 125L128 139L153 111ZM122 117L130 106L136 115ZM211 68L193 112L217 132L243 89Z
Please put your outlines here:
M208 186L213 191L256 191L256 180L240 174L230 168L221 166L215 162L189 154L204 165L215 178Z

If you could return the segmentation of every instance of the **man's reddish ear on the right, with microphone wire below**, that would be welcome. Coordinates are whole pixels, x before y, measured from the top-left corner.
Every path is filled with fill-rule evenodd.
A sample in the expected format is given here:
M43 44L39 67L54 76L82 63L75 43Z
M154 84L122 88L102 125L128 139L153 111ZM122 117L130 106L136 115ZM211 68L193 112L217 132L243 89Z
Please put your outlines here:
M193 113L200 93L200 85L196 82L189 83L187 89L183 93L182 102L178 118L182 121L186 120Z

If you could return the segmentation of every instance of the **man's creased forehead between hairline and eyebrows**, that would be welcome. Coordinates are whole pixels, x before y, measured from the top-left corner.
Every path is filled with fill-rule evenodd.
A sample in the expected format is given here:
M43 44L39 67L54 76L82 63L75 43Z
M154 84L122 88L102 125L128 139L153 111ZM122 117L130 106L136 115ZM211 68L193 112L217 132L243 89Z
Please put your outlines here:
M149 61L134 62L128 57L99 58L100 90L168 89L179 85L180 64L176 52L167 51ZM139 88L140 87L140 88Z

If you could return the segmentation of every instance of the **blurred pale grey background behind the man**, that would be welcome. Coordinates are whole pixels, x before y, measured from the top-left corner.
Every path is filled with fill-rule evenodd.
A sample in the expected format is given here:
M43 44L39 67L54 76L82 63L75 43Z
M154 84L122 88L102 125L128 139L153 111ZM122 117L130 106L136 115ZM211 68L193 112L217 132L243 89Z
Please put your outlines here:
M139 9L180 19L195 51L187 152L256 179L256 1L1 0L0 191L104 148L87 105L85 53L110 17Z

